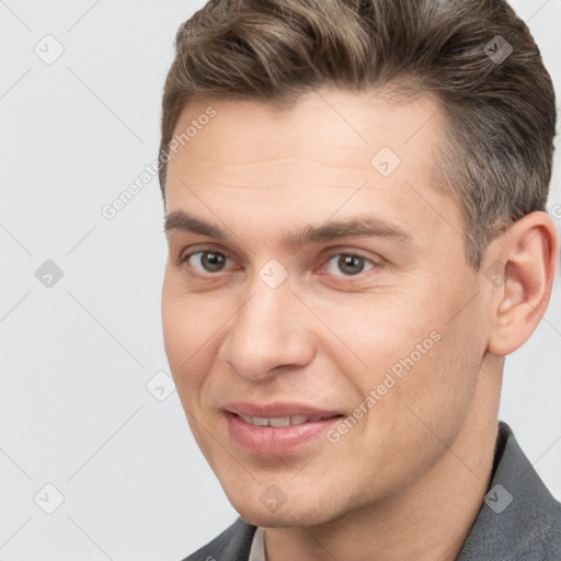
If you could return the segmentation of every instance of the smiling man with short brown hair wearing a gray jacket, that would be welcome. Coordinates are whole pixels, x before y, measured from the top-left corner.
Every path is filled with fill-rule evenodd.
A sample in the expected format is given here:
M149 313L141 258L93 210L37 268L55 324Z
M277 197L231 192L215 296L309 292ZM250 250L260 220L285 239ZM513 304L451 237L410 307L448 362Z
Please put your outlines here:
M216 0L163 94L164 343L240 517L187 560L559 560L497 423L543 314L550 77L500 0Z

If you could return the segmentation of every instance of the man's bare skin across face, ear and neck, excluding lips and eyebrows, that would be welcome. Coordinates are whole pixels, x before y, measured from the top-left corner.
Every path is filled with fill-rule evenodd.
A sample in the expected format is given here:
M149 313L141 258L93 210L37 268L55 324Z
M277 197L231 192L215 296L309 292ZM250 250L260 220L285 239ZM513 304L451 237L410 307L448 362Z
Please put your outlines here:
M490 483L503 357L549 301L552 221L528 215L490 244L480 271L469 266L461 211L432 185L445 117L430 96L390 104L324 88L284 113L207 99L176 131L209 105L216 117L172 157L165 195L168 215L188 211L230 236L167 232L165 352L197 444L233 507L266 528L268 561L455 559ZM389 176L370 164L385 146L401 159ZM411 240L282 243L365 211ZM176 264L203 250L226 255L222 270L206 270L201 253ZM348 251L366 260L356 275L337 266ZM274 289L259 276L272 259L288 273ZM504 282L490 282L493 263ZM440 340L339 442L320 436L272 458L231 439L226 402L352 415L435 331ZM270 485L286 497L275 512L260 500Z

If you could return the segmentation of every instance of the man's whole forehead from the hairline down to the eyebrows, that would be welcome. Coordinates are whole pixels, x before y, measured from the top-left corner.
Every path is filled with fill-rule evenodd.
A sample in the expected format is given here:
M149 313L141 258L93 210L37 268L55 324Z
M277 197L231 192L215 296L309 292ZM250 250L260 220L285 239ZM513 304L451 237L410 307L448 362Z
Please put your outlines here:
M431 227L443 204L457 215L432 183L443 125L439 103L426 94L396 103L324 88L286 111L197 100L175 127L184 141L169 162L167 209L195 208L215 224L214 214L236 209L248 225L278 226L371 208L382 220Z

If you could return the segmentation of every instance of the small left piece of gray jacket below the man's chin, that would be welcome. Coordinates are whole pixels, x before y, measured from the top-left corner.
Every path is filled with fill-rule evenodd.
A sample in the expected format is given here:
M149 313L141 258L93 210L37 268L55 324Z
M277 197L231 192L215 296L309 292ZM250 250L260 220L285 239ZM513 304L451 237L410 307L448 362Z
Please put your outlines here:
M248 561L256 529L256 526L238 517L219 536L183 561Z

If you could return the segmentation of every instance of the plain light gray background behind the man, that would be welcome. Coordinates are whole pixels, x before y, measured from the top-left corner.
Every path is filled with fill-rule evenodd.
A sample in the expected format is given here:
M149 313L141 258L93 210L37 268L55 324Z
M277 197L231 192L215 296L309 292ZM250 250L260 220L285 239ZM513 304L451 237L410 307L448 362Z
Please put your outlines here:
M561 95L561 0L513 4ZM169 373L157 178L113 220L101 214L157 156L174 34L201 5L0 1L3 561L173 561L236 517L176 393L159 401L146 387ZM65 49L51 65L34 53L56 53L47 34ZM559 153L556 165L559 226ZM50 288L35 277L46 260L64 273ZM500 415L558 499L560 300L558 282L535 336L507 359ZM53 514L47 483L64 495Z

